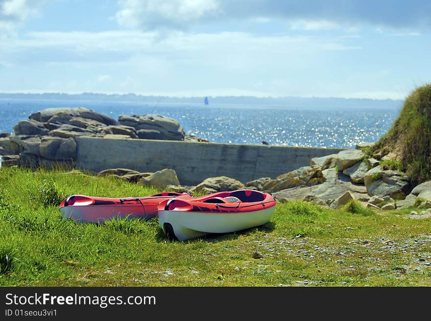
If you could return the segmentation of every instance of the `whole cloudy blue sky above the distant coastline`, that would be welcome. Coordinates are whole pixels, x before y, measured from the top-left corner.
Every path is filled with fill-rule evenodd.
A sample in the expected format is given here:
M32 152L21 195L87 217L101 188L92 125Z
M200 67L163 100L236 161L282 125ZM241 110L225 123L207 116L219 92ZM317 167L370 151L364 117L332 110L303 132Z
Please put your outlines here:
M403 99L431 1L0 0L0 92Z

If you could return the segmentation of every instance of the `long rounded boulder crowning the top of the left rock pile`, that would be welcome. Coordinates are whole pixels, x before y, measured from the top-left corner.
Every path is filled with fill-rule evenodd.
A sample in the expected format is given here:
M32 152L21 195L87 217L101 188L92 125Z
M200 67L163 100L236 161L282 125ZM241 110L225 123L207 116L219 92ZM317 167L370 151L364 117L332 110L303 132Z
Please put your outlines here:
M66 115L66 116L65 116ZM66 107L66 108L47 108L37 113L31 114L29 119L38 122L50 122L55 123L56 120L61 119L65 116L65 119L72 119L73 117L80 117L84 119L94 120L105 125L118 125L118 122L104 114L96 112L93 109L83 108L83 107ZM52 118L52 119L51 119ZM58 121L60 123L65 123L64 121Z

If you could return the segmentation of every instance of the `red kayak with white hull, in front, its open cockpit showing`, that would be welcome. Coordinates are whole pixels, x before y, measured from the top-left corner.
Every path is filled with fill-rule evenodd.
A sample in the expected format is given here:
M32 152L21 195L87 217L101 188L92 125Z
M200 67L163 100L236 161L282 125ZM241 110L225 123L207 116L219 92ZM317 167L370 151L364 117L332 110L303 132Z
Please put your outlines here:
M166 199L158 205L157 214L165 234L183 241L262 225L271 219L276 203L271 194L239 190Z

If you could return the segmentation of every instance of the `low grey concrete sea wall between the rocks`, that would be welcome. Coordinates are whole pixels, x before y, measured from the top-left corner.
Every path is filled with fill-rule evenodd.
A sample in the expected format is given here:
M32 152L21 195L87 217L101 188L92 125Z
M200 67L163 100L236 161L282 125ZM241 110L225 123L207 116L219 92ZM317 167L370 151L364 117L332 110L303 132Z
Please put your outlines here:
M236 145L144 139L76 137L76 165L91 172L128 168L155 172L165 168L177 173L182 185L226 175L245 183L310 165L312 157L341 149Z

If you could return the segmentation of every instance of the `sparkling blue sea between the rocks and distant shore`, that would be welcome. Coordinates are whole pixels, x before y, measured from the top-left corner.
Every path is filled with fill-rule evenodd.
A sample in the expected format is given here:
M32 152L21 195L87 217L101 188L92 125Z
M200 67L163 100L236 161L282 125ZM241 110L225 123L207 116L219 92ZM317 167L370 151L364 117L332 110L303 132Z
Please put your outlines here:
M351 148L376 142L399 114L399 107L295 108L286 106L127 103L72 100L0 99L0 132L34 112L52 107L86 107L114 119L122 114L159 114L176 119L187 134L216 143Z

